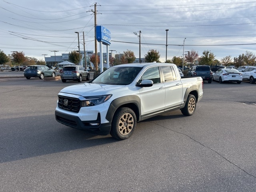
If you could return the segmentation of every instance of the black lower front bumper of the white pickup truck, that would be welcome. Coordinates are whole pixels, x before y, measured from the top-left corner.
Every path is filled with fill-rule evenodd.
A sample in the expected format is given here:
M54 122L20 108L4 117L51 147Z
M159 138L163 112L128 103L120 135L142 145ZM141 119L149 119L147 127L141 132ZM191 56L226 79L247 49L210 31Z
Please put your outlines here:
M78 116L72 116L70 114L55 111L55 119L61 124L80 130L85 130L92 134L107 135L110 133L111 129L110 122L106 122L104 124L100 123L100 113L98 113L96 120L82 121ZM98 123L98 125L90 125L90 123Z

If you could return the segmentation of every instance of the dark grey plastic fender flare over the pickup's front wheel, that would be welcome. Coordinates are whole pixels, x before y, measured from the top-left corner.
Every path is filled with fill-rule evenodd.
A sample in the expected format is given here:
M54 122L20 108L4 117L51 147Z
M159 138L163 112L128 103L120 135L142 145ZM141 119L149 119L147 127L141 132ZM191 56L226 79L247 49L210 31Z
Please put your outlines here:
M128 107L136 114L137 121L141 119L140 98L136 95L124 96L113 100L108 108L106 119L112 122L113 116L118 108Z

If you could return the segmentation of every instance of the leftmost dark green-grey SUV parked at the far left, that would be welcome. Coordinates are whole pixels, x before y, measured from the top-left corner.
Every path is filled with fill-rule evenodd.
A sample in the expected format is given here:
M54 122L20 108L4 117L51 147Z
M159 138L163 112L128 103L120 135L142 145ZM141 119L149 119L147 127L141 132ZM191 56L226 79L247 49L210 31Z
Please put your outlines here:
M44 77L55 77L55 72L45 65L32 65L24 70L24 76L27 79L30 79L31 77L39 77L40 79L43 79Z

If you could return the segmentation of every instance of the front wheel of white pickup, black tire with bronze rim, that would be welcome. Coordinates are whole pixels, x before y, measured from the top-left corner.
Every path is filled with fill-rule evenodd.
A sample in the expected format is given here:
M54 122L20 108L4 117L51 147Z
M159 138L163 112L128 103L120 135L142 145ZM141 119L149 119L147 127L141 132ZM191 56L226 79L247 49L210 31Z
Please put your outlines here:
M134 132L136 122L137 118L132 109L119 108L114 114L110 135L118 140L128 139Z

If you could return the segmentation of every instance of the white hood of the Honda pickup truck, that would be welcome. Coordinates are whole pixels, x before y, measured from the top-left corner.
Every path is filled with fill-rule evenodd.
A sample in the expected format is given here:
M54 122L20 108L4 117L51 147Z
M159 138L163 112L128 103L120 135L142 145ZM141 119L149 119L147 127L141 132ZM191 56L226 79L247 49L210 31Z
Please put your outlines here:
M104 85L94 83L77 84L63 88L60 90L62 93L76 94L81 96L95 96L111 94L114 90L121 91L120 88L124 88L124 85Z

